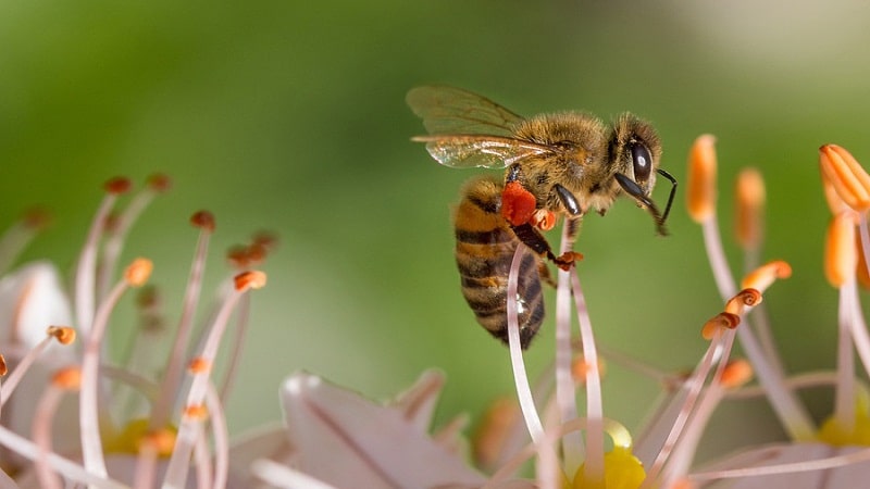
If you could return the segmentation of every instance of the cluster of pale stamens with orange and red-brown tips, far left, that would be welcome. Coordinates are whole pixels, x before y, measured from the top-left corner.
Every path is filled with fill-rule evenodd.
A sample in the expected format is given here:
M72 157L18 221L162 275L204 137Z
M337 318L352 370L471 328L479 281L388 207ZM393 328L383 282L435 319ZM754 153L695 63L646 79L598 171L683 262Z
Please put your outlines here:
M153 264L144 258L132 261L121 273L121 280L114 285L111 283L114 275L112 271L115 269L132 224L153 197L166 191L170 186L171 181L166 176L154 175L148 179L141 191L129 199L124 209L117 211L119 199L132 190L133 184L127 178L113 178L105 183L107 195L88 231L75 274L74 310L77 327L47 325L46 339L30 348L24 355L17 355L13 363L14 368L0 386L2 387L0 406L2 406L15 400L14 392L21 387L24 374L30 366L42 361L50 340L72 351L77 348L76 337L82 338L78 346L80 353L71 355L71 359L77 360L55 371L41 396L33 418L34 442L29 442L21 434L13 432L5 426L0 426L0 450L12 450L32 459L41 487L61 487L61 477L101 487L116 487L119 482L113 479L115 475L111 473L108 462L114 453L138 454L139 468L135 475L137 487L152 485L153 468L160 459L164 459L163 463L167 465L163 484L167 487L183 487L191 464L191 449L194 444L201 443L208 437L201 429L207 424L212 428L214 466L198 467L198 474L211 474L209 480L215 487L223 487L226 481L228 466L225 453L228 444L221 403L227 389L223 389L221 393L214 390L211 385L212 365L217 360L217 346L231 317L234 317L239 300L247 298L248 290L265 285L265 274L250 267L261 264L266 259L276 242L274 236L258 234L245 247L244 258L233 253L227 255L236 268L235 276L227 277L233 284L233 291L221 298L213 314L207 315L211 319L203 328L206 335L201 343L203 347L188 363L187 373L191 377L189 388L184 388L181 380L184 359L187 358L186 351L191 344L194 317L202 286L209 236L215 228L214 217L208 211L197 212L190 218L191 224L200 230L200 239L195 252L182 316L175 330L175 341L169 355L169 364L160 367L163 376L159 377L159 380L150 380L137 375L144 373L113 366L104 358L104 337L111 325L113 310L129 288L146 286ZM37 214L28 214L23 222L25 225L13 227L15 233L8 233L7 237L0 240L0 252L13 253L11 258L0 255L0 262L3 264L14 261L14 254L22 248L21 243L29 240L33 229L42 226L46 220L37 217ZM144 289L139 296L138 306L141 314L149 318L144 322L145 325L163 323L160 318L160 301L153 288ZM245 308L241 313L235 315L238 331L245 330L247 311L248 308ZM235 359L238 352L232 351L231 355ZM0 375L4 375L5 363L1 360L2 355L0 355ZM133 365L129 367L135 368ZM224 380L225 388L229 385L234 369L231 371ZM116 410L124 404L123 399L119 398L117 386L110 390L111 394L110 391L103 391L107 376L121 381L122 385L129 383L129 387L141 390L151 405L150 414L146 418L128 417L126 426L122 429L107 425L110 410ZM57 424L55 418L69 417L70 414L58 411L65 392L77 392L79 398L80 464L59 457L52 447L52 426ZM173 406L177 405L179 400L183 400L182 405L186 408L181 412L174 412ZM119 413L115 411L112 414ZM179 422L177 429L173 426L176 421ZM65 419L64 423L70 421ZM199 464L203 460L197 457L192 462ZM15 467L3 465L0 468L12 471ZM203 468L206 472L202 472ZM127 484L130 482L133 481L127 480Z

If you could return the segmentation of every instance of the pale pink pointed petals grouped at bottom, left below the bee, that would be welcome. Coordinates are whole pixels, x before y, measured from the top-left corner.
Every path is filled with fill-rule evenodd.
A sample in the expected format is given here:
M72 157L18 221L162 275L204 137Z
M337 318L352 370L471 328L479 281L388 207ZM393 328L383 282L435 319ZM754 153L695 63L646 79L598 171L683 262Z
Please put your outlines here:
M443 385L439 372L427 371L381 405L315 375L293 374L281 389L284 428L237 446L245 456L234 463L250 471L251 485L309 477L339 488L480 487L485 477L459 454L464 419L427 434Z

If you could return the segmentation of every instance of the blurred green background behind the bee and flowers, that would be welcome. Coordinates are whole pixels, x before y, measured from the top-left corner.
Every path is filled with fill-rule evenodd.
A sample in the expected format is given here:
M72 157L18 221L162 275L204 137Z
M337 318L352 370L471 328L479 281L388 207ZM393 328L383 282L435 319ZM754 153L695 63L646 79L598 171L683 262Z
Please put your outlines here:
M405 93L442 83L521 114L629 110L655 123L662 165L682 183L693 139L718 137L726 239L733 177L763 172L766 256L794 266L767 297L775 333L790 369L830 367L836 294L821 272L817 148L870 159L867 18L860 1L4 2L0 218L52 209L55 224L25 258L71 271L101 183L166 172L174 188L125 255L154 260L172 317L194 211L217 217L212 286L228 246L261 228L282 238L253 298L233 432L277 421L278 385L299 368L384 398L437 366L448 376L439 422L476 419L512 380L453 265L449 209L474 171L442 167L409 140L423 127ZM668 369L694 365L699 327L721 309L683 189L672 236L655 237L624 200L589 216L577 244L598 340ZM122 344L128 327L113 328ZM545 323L529 353L533 375L552 355L551 331ZM605 388L606 412L629 426L657 392L618 366ZM760 403L725 412L711 439L733 435L729 423L770 424Z

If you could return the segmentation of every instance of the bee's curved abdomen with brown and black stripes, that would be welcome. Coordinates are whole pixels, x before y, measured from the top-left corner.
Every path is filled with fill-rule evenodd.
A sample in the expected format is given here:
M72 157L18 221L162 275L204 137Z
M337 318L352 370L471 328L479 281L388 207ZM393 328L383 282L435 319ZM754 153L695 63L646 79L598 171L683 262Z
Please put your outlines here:
M477 323L508 341L508 274L520 240L501 217L504 184L493 177L475 178L462 191L456 210L456 262L465 297ZM520 343L527 348L544 319L539 259L522 247L517 289Z

